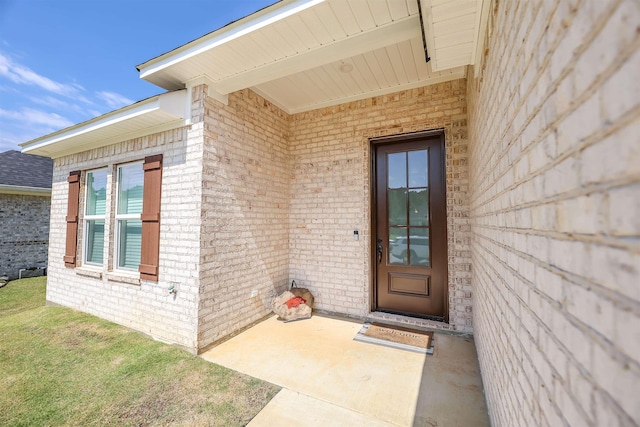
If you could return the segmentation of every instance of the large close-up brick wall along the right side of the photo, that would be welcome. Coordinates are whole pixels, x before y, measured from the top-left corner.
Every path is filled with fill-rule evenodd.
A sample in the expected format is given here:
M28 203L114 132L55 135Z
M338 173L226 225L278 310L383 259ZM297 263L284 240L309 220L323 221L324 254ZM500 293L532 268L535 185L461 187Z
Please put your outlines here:
M467 90L492 421L637 425L640 5L509 0L493 19Z

